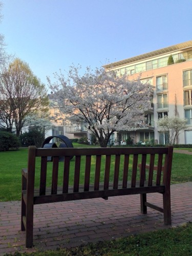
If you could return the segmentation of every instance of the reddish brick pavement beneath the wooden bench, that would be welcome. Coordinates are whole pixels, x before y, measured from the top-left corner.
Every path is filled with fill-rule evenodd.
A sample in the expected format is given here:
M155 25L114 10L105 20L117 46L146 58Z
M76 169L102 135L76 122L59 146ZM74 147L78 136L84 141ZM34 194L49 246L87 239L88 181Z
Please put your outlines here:
M192 221L192 182L171 186L172 226ZM162 206L162 195L147 196ZM0 255L72 247L130 234L168 228L163 214L148 208L140 213L140 196L88 199L34 206L33 248L25 248L20 231L20 201L0 203Z

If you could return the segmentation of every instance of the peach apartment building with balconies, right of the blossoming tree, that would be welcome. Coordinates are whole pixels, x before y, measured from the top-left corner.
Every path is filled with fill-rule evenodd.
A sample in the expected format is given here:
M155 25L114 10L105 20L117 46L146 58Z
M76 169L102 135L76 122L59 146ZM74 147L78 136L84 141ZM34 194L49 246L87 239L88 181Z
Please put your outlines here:
M174 63L168 65L169 56ZM178 138L178 144L192 144L192 40L141 54L105 65L106 70L116 70L119 76L125 72L130 79L140 75L143 82L154 87L152 110L141 117L133 131L120 131L113 135L114 141L125 141L129 136L135 143L155 141L167 144L166 133L161 132L157 121L160 117L179 115L186 118L188 127Z

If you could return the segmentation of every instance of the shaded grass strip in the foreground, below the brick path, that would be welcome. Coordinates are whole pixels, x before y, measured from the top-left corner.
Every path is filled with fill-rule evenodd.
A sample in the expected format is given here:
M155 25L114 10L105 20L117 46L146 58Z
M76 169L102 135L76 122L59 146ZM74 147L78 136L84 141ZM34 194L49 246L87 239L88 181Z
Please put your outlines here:
M127 238L98 242L70 249L58 249L55 251L19 253L16 256L161 256L161 255L192 255L192 222L176 228L152 231ZM5 254L8 256L10 254Z

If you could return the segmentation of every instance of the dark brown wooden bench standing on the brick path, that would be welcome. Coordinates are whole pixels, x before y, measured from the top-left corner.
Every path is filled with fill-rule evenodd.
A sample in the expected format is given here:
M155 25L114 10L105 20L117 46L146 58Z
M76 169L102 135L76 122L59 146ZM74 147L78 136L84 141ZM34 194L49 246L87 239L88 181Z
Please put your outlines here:
M53 162L48 162L48 156L52 157ZM61 156L65 157L64 163L59 162ZM71 156L74 157L70 161ZM170 225L172 157L173 146L112 148L29 146L28 168L22 170L21 228L26 230L26 247L33 246L34 204L91 198L108 199L113 196L140 194L141 212L146 214L147 206L163 212L164 224ZM146 168L149 170L145 173ZM74 173L72 181L71 172ZM82 177L83 181L80 181ZM49 182L51 186L47 187L46 184ZM34 185L37 183L38 187ZM147 193L161 193L163 207L148 203Z

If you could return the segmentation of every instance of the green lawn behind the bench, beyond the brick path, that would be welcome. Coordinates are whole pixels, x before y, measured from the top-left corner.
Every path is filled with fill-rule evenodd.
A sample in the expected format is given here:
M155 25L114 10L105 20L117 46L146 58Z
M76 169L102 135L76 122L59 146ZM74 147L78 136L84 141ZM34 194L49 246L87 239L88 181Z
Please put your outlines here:
M76 147L79 147L80 144L75 143ZM80 145L82 146L82 145ZM84 145L83 145L84 147ZM21 169L27 167L27 154L28 148L20 148L19 151L8 151L0 152L0 184L1 184L1 193L0 201L15 201L20 200L21 197ZM94 161L94 159L93 159ZM172 179L171 183L181 183L192 181L191 173L191 162L192 155L174 153L173 156L173 168L172 168ZM81 166L83 167L85 159L82 160ZM130 164L132 162L130 161ZM37 161L37 167L40 166L40 160ZM70 173L71 182L73 182L74 176L74 160L71 161L72 172ZM121 168L121 167L120 167ZM121 168L122 169L122 168ZM62 183L62 171L63 165L60 164L59 167L59 180L60 184ZM91 181L94 179L94 167L92 167ZM36 175L36 186L39 173ZM48 163L48 185L51 183L51 163ZM104 177L104 158L102 158L101 164L101 180ZM121 177L120 177L121 178ZM81 174L80 183L83 183L84 176ZM113 172L111 172L111 180L113 180Z

